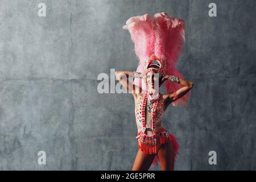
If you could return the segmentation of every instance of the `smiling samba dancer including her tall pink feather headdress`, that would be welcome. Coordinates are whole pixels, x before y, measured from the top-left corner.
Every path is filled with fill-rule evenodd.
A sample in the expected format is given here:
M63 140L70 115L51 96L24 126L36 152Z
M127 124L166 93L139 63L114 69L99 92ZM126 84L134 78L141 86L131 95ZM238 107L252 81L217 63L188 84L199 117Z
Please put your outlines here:
M129 18L123 28L129 30L139 59L136 72L115 72L134 96L139 150L132 170L148 170L158 162L162 170L174 170L179 144L162 125L162 118L170 104L184 106L193 87L175 68L185 42L184 21L164 12L152 18L144 14ZM133 83L129 76L134 77ZM159 93L162 84L165 94Z

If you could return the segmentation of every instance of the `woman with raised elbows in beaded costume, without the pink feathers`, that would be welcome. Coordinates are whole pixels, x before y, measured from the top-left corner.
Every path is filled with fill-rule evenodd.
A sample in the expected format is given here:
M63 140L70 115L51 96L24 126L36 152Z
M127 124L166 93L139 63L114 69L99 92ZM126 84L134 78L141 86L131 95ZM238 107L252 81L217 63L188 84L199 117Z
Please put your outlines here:
M161 120L167 107L172 102L183 97L187 92L189 92L189 90L191 90L193 87L193 82L170 75L160 76L159 82L159 69L160 68L158 66L152 64L148 65L146 75L138 72L115 72L115 76L118 78L119 82L127 90L129 90L130 93L133 94L135 102L135 114L138 127L137 140L139 144L139 150L133 164L133 171L148 170L154 159L156 163L155 165L157 165L157 161L159 160L162 170L174 170L174 161L179 149L179 145L177 144L175 137L171 134L168 134L167 130L164 129ZM137 78L142 77L148 86L148 90L143 90L137 85L129 82L127 79L129 75ZM156 90L159 90L159 88L155 87L155 83L159 82L160 86L167 80L175 81L183 87L172 93L156 93ZM139 90L139 93L136 92L137 90ZM144 107L143 100L146 100ZM156 106L152 104L155 104ZM143 108L145 114L139 113L139 111L143 110ZM141 117L142 115L146 116L144 117L144 122L140 120L140 118L143 118ZM143 126L146 127L145 130L143 130ZM154 135L155 137L153 137ZM154 143L155 139L155 144L143 146L143 136L149 137L150 143Z

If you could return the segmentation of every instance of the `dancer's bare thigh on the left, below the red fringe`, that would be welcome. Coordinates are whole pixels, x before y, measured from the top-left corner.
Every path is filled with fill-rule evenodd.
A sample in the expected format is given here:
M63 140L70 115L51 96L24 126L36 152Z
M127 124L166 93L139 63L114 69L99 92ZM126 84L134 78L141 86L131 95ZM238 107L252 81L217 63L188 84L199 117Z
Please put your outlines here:
M139 148L131 171L147 171L155 158L155 154L146 154Z

